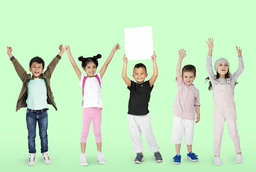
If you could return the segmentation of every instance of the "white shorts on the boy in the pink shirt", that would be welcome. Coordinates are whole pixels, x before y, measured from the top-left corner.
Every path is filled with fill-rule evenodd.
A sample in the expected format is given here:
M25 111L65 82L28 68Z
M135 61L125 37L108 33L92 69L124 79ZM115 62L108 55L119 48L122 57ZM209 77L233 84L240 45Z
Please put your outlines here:
M191 145L193 142L195 120L181 119L174 114L172 125L172 139L173 144L181 144L183 135L185 135L184 143Z

